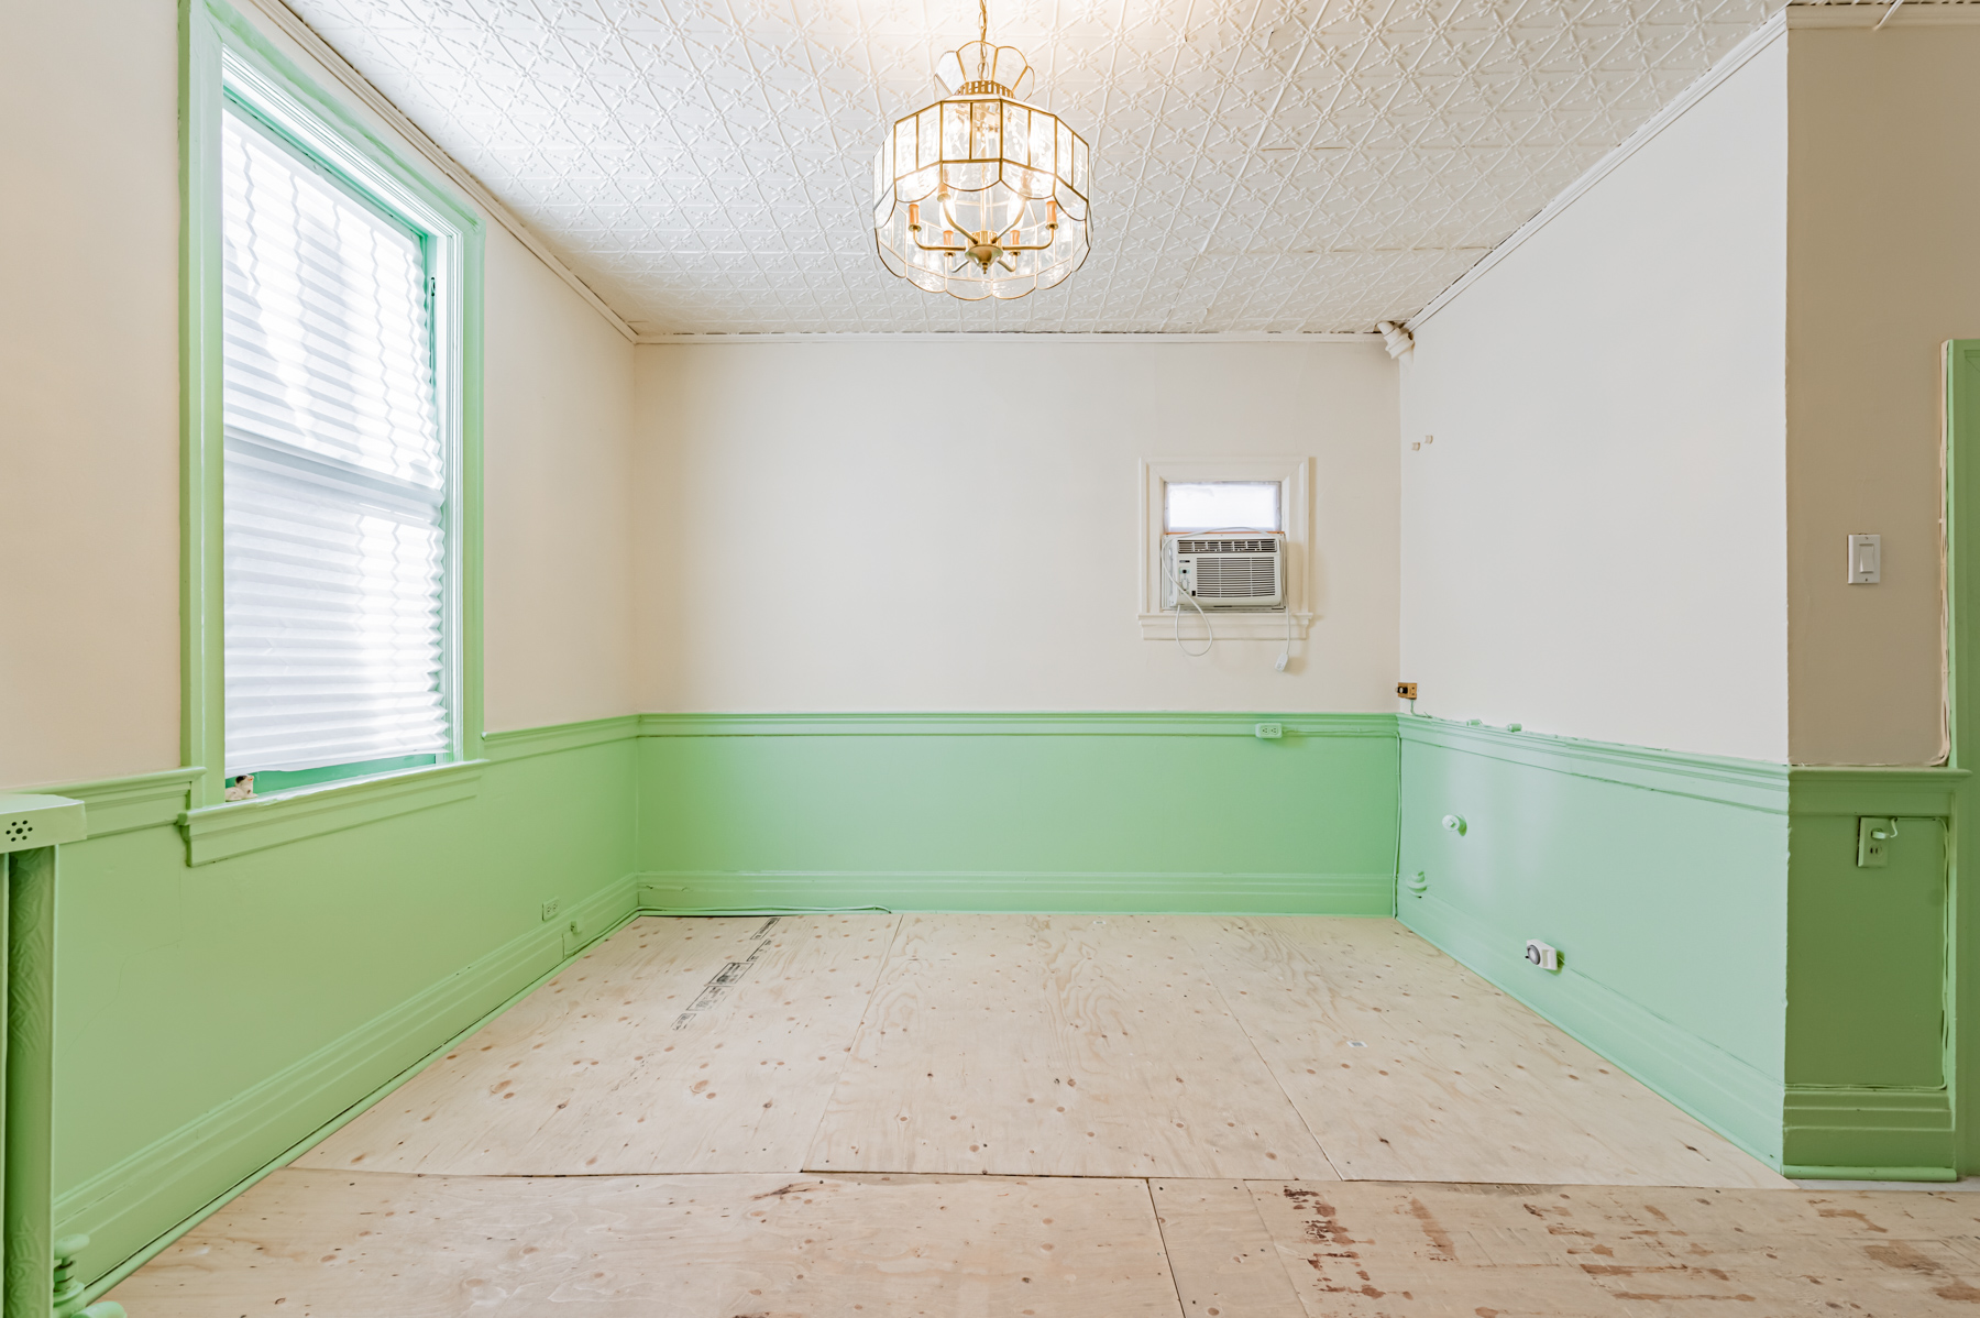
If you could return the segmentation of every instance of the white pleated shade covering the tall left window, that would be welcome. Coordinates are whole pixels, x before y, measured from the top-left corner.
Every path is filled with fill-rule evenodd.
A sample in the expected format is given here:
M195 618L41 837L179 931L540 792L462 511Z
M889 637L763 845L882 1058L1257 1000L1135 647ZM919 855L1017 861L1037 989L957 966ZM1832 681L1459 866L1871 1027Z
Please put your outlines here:
M426 249L230 105L226 772L446 754Z

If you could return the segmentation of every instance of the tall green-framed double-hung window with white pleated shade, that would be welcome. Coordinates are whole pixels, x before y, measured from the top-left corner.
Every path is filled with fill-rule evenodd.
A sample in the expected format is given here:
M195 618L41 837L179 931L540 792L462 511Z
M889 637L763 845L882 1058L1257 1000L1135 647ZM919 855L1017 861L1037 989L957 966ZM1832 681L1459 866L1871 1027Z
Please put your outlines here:
M196 803L471 758L479 220L238 12L194 12Z

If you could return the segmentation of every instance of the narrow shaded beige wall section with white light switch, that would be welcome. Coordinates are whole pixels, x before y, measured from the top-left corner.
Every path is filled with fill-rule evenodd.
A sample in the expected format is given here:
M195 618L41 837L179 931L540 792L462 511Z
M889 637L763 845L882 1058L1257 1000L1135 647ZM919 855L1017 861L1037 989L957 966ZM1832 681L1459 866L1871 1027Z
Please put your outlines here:
M1883 32L1790 22L1788 687L1804 764L1942 754L1938 356L1980 336L1980 26L1938 26L1932 8ZM1851 532L1883 536L1881 584L1843 584Z

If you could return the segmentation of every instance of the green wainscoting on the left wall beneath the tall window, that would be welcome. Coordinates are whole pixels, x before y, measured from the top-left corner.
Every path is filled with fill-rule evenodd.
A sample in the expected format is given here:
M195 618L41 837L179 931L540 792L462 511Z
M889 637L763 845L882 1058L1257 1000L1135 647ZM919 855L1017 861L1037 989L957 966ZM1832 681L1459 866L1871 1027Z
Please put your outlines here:
M91 835L61 851L55 1213L91 1237L85 1274L632 916L632 730L489 736L465 796L202 865L180 825L198 770L63 784Z

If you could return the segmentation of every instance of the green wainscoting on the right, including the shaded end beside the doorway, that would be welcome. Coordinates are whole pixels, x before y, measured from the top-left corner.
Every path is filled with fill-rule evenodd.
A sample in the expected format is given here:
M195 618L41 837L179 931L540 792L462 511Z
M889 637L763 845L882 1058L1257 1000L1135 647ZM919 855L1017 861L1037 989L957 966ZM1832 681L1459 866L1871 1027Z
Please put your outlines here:
M1966 772L1398 730L1404 924L1788 1176L1956 1176ZM1863 817L1899 819L1881 869Z

